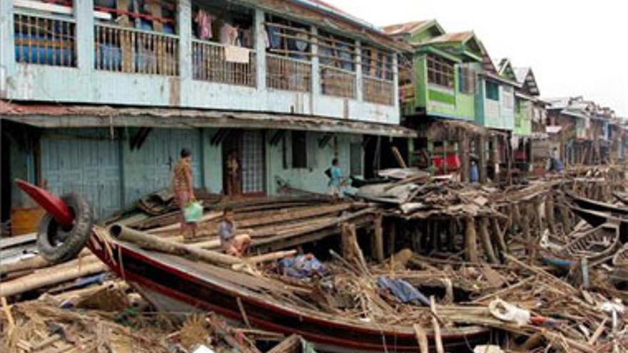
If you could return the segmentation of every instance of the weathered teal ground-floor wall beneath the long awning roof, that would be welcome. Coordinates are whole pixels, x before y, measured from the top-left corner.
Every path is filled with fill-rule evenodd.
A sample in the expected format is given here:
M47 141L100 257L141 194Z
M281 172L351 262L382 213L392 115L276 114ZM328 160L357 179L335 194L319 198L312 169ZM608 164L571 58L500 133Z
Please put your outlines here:
M153 129L141 148L131 150L129 136L136 129L118 129L112 137L106 128L47 129L39 141L42 146L43 177L57 194L78 191L88 198L99 217L133 205L146 193L169 188L171 168L181 148L192 150L193 180L196 187L211 193L223 191L222 146L212 145L217 129ZM287 160L291 161L290 131L285 133ZM265 133L265 191L277 192L275 177L294 188L326 193L328 178L324 171L338 157L343 175L350 174L351 144L362 145L362 135L338 134L322 148L323 133L307 133L308 168L284 167L283 143L271 145L272 133ZM11 178L35 182L34 150L11 150ZM363 170L363 157L359 160ZM361 175L360 175L361 176ZM31 205L15 189L13 206Z

